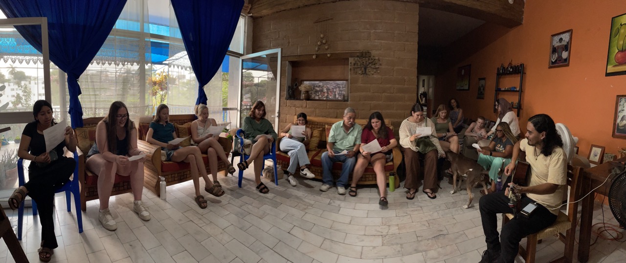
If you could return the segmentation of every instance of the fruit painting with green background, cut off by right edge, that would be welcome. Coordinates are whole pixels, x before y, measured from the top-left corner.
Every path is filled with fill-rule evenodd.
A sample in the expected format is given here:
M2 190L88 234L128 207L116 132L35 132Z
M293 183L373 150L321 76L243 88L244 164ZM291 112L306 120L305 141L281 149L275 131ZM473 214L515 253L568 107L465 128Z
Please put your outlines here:
M605 76L626 75L626 14L611 19Z

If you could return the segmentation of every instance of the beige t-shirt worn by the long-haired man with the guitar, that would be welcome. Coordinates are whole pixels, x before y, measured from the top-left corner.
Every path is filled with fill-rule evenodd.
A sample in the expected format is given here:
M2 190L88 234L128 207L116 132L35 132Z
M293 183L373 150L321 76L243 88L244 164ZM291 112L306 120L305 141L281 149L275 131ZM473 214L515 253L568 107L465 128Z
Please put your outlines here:
M567 187L567 159L565 151L561 147L552 150L552 154L545 156L538 153L534 146L528 145L528 140L520 141L520 150L526 152L526 162L530 164L531 175L528 186L540 185L542 183L554 183L559 185L557 191L548 195L536 195L526 193L530 199L546 207L552 214L558 215L558 209L563 202L563 191Z

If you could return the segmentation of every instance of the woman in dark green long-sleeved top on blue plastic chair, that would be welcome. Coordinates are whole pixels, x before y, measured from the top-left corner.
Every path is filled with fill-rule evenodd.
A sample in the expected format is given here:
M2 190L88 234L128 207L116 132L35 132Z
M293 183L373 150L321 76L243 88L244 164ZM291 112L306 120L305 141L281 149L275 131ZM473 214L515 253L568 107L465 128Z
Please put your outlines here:
M261 193L268 193L270 189L261 182L263 155L272 150L272 143L276 141L278 135L274 131L272 123L265 118L265 104L263 101L259 100L252 105L252 110L244 118L242 130L244 130L245 139L251 140L253 144L248 160L237 163L237 167L239 167L239 170L245 170L250 163L254 162L254 180L257 183L257 190Z

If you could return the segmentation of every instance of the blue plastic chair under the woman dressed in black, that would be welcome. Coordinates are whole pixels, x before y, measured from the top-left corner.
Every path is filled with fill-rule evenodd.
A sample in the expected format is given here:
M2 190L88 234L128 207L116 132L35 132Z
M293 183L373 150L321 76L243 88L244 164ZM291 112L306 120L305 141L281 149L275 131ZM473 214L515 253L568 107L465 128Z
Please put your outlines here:
M56 189L55 193L65 192L65 200L67 201L68 212L72 211L71 207L71 199L69 198L69 193L74 194L74 207L76 207L76 219L78 219L78 233L83 232L83 215L80 210L80 186L78 185L80 180L78 180L78 153L74 153L74 160L76 160L76 167L74 167L74 178L73 180L68 180L68 183L65 183L63 187ZM22 158L18 159L18 180L19 186L24 185L24 160ZM35 200L31 200L33 203L33 216L37 215L37 204ZM24 222L24 201L19 205L18 208L18 240L22 240L22 227Z

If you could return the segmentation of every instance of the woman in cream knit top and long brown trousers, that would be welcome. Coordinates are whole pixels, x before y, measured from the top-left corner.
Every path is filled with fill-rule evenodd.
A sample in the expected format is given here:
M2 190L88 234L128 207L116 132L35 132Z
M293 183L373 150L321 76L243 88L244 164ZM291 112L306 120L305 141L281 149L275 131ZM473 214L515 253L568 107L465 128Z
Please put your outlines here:
M424 127L430 128L428 135L420 133ZM400 145L404 150L406 165L406 181L404 188L408 188L406 199L413 200L419 186L419 158L424 159L424 188L422 192L429 199L436 199L433 192L437 188L437 157L445 157L439 145L433 121L424 118L424 110L419 103L411 108L411 116L400 125Z

